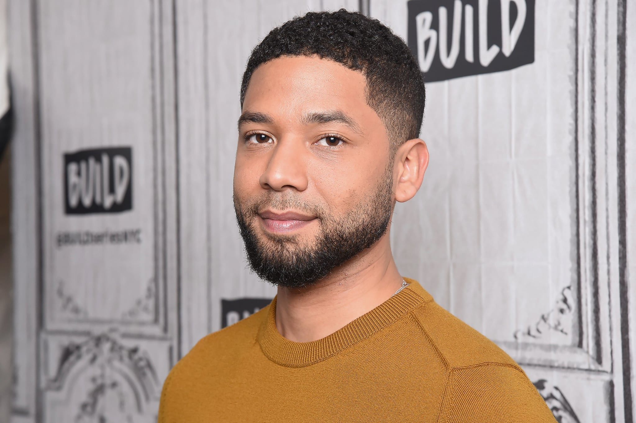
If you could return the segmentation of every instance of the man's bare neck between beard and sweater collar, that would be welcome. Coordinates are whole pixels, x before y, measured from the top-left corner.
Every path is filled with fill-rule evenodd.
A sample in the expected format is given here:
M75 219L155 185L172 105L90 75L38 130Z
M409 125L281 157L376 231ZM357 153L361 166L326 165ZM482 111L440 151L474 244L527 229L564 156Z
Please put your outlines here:
M322 339L391 298L402 286L389 234L307 288L278 288L276 328L286 339Z

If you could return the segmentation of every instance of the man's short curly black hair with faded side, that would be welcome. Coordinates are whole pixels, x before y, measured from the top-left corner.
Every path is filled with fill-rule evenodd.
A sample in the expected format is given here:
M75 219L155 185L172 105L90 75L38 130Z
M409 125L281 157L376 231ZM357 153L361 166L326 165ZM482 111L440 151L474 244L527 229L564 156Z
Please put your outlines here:
M281 56L334 60L366 78L366 102L378 114L392 149L417 138L424 117L424 79L403 39L377 19L340 9L308 12L274 28L247 60L240 90L243 107L254 70Z

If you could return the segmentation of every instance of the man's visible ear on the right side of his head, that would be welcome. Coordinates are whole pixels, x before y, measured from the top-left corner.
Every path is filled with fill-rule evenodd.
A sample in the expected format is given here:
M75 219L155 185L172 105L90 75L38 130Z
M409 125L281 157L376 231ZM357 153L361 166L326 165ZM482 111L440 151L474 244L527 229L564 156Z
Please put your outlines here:
M424 172L429 165L429 150L424 140L413 138L404 142L397 149L395 156L396 184L395 199L400 203L408 201L413 196L424 178Z

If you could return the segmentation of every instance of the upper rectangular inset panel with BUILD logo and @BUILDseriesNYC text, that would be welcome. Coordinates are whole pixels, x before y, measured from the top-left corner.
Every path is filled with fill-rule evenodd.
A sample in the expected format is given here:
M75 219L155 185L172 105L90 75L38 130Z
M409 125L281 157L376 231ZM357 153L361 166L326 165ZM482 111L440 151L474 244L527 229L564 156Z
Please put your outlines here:
M153 6L39 5L46 328L161 324Z

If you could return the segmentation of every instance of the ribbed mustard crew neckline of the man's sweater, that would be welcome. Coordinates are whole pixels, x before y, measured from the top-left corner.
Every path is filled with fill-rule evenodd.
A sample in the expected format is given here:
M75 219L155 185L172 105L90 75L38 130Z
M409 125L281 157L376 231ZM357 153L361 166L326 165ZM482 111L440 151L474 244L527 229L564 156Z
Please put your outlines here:
M263 354L281 366L305 367L324 361L358 342L380 332L418 305L432 301L431 294L413 279L404 278L410 285L375 309L363 314L343 328L312 342L293 342L280 335L276 328L276 297L259 326L256 340Z

